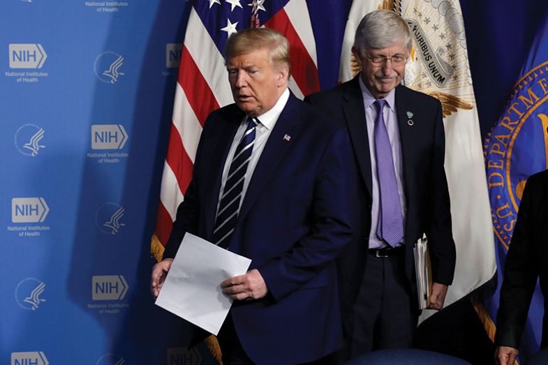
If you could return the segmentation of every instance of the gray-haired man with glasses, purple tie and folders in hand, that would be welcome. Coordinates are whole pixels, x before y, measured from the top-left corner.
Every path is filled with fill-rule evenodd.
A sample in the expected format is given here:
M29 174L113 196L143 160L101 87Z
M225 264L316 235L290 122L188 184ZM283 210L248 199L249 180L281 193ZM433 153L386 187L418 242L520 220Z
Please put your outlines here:
M362 239L339 262L350 357L412 345L420 314L413 246L423 234L434 279L429 308L443 307L453 280L442 110L435 98L401 85L411 47L405 20L373 11L355 35L360 75L306 98L346 124L364 192L356 199Z

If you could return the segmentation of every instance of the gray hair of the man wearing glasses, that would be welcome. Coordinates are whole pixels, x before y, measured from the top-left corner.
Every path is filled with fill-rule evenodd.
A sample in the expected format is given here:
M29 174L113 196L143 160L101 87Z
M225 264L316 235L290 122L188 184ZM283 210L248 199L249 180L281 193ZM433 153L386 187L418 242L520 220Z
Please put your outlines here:
M401 42L410 50L412 41L403 17L392 10L375 10L365 15L357 26L354 47L362 53L365 48L386 48Z

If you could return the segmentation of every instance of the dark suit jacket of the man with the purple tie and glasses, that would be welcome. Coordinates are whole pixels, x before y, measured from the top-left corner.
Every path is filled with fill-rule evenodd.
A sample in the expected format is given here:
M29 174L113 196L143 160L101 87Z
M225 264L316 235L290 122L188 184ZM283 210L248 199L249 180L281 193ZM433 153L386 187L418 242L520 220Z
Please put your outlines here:
M371 157L359 76L339 87L308 96L305 100L329 116L346 124L360 170L364 204L362 243L353 246L341 260L341 300L345 313L352 306L363 277L367 241L371 230ZM413 246L427 234L432 276L437 283L450 285L454 275L455 248L451 212L443 161L445 134L438 100L407 87L396 88L395 103L403 165L403 191L406 197L405 250L410 295L416 297ZM408 117L411 112L412 117ZM408 121L412 122L409 123ZM415 310L418 311L418 301Z

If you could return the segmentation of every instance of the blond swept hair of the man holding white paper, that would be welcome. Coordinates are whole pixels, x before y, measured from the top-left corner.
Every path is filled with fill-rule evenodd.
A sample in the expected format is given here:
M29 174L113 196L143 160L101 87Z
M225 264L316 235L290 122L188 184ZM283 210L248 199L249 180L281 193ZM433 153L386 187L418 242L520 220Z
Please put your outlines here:
M272 64L287 66L291 72L289 42L279 31L270 28L247 28L233 33L225 44L225 61L260 48L270 51Z

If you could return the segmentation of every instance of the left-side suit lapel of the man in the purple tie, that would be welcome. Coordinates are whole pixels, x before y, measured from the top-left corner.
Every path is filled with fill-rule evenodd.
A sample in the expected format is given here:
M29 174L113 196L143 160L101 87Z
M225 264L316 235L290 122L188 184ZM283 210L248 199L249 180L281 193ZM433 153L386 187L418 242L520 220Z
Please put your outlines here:
M359 76L348 83L343 94L343 114L350 133L350 140L360 167L362 179L369 196L371 195L371 156L369 154L369 138L365 121L364 99L360 89Z

